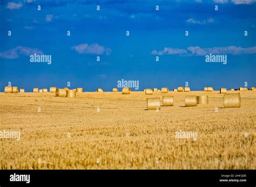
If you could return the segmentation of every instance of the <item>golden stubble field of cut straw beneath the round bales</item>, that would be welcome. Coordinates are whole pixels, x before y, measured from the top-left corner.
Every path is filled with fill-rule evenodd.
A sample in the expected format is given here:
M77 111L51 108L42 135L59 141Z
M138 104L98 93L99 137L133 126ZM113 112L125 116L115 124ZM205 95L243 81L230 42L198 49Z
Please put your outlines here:
M218 91L0 93L1 169L256 169L256 91L241 108L224 109ZM174 106L147 111L146 98L174 96ZM208 105L183 107L185 95ZM39 107L39 108L38 108ZM217 109L218 108L218 109ZM177 139L193 131L197 140Z

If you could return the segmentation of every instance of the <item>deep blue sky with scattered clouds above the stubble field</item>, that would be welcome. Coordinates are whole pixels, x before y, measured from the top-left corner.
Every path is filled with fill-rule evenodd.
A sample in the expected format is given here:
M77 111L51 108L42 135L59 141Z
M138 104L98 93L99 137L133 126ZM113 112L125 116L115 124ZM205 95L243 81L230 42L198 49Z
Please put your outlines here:
M0 91L8 82L111 91L122 78L139 90L255 87L255 12L254 0L1 1ZM31 63L34 53L51 64ZM210 53L227 64L206 63Z

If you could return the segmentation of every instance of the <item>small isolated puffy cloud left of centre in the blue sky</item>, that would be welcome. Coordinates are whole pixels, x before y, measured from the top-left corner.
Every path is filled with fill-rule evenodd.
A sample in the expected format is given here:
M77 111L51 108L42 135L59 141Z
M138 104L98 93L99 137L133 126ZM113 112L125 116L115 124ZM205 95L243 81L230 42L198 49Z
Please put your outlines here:
M111 49L105 46L100 46L99 44L80 44L77 46L71 47L71 49L75 49L79 54L106 54L110 55L111 54Z

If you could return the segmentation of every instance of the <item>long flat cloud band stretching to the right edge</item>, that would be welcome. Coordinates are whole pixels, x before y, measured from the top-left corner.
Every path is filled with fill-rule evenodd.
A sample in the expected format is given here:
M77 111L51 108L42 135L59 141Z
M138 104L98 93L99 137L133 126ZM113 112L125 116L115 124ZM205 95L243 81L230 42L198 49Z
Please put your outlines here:
M196 55L204 56L207 54L231 54L231 55L243 55L243 54L256 54L256 46L253 47L237 47L237 46L227 46L227 47L212 47L212 48L201 48L199 46L190 46L187 49L177 49L165 47L164 50L151 52L152 55Z

